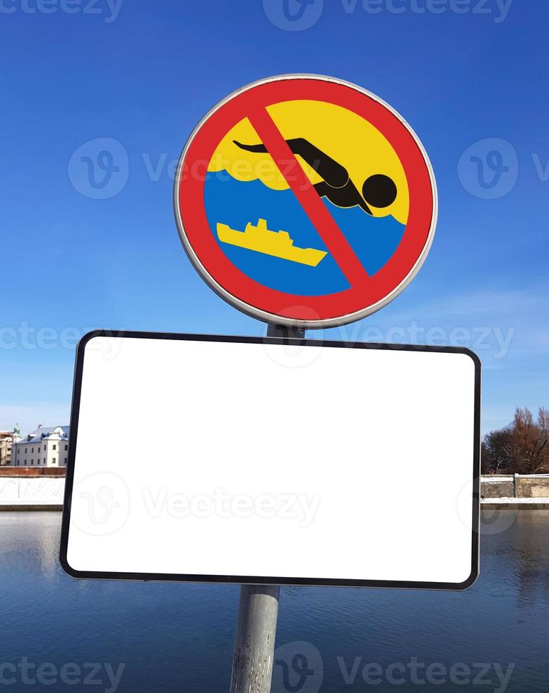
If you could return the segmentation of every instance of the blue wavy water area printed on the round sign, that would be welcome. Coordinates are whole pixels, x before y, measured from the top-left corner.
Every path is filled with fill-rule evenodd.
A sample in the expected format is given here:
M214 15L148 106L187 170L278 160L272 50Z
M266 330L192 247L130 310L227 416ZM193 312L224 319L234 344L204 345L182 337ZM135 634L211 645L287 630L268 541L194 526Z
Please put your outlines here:
M381 269L401 241L403 224L392 216L375 218L359 207L343 209L326 199L323 202L367 273L372 275ZM330 253L317 267L309 267L218 239L218 223L244 231L248 222L256 224L259 219L266 219L271 231L288 231L297 248L328 250L291 190L271 190L259 180L242 182L220 171L206 175L204 204L221 250L238 269L260 284L298 296L322 296L349 288Z

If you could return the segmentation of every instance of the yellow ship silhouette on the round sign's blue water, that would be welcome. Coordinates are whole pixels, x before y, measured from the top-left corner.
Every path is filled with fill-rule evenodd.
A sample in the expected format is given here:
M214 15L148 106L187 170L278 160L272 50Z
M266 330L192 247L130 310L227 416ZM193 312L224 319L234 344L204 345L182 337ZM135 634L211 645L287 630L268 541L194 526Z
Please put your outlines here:
M297 248L288 231L271 231L267 228L266 219L259 219L257 226L249 221L244 231L236 231L226 223L218 223L217 231L218 238L223 243L281 257L283 260L308 264L309 267L317 267L317 264L328 254L316 248Z

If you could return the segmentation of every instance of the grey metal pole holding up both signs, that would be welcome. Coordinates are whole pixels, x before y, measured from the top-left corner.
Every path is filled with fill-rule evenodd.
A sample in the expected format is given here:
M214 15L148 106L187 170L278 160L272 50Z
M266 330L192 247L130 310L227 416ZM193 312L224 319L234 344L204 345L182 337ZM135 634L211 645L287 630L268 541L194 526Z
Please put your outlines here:
M305 337L299 327L268 325L267 337ZM278 585L242 585L230 693L270 693L273 676Z

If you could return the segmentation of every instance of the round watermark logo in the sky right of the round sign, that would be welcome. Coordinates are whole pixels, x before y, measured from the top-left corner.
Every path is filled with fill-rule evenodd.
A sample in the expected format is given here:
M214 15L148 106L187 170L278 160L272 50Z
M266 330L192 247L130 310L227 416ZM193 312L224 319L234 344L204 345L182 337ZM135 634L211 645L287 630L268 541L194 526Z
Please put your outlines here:
M511 192L519 177L519 158L506 139L488 137L471 144L458 162L465 190L481 199L497 199Z

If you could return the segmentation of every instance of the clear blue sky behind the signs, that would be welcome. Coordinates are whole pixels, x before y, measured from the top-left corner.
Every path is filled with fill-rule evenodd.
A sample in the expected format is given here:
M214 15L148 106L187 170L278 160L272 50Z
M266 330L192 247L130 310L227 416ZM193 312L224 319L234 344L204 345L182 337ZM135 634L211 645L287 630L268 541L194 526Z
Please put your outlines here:
M411 286L331 336L475 349L483 430L549 404L549 6L288 0L290 21L283 1L0 0L0 429L68 422L74 343L97 327L264 333L189 264L172 175L220 98L293 72L391 103L439 188ZM125 185L93 199L71 158L105 138Z

